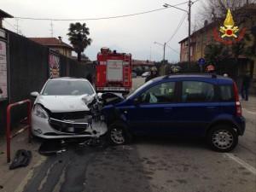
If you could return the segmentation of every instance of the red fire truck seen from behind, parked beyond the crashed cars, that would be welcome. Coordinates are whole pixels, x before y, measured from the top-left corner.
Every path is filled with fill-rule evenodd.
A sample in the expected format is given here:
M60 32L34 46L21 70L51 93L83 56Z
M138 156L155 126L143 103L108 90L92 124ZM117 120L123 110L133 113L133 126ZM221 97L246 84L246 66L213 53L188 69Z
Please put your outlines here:
M131 54L102 48L97 55L96 91L129 93L131 90Z

